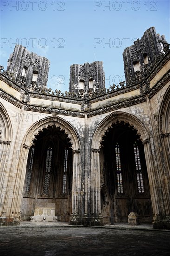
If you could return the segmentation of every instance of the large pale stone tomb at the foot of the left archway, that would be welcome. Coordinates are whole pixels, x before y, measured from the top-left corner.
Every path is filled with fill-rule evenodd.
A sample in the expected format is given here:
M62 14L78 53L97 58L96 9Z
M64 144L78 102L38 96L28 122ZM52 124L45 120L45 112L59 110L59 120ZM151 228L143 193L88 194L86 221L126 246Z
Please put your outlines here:
M55 216L55 203L46 205L35 205L34 216L31 216L30 222L57 222Z

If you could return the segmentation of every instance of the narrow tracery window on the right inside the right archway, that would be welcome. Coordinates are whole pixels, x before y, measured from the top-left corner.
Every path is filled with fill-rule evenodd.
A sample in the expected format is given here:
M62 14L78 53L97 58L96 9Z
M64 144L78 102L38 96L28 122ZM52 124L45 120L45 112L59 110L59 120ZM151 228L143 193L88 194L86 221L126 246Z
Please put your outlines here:
M142 169L141 169L141 162L140 162L140 155L139 155L139 148L137 146L137 142L135 142L133 147L134 147L135 165L136 165L136 171L137 171L138 192L139 193L144 193L144 183L143 183Z

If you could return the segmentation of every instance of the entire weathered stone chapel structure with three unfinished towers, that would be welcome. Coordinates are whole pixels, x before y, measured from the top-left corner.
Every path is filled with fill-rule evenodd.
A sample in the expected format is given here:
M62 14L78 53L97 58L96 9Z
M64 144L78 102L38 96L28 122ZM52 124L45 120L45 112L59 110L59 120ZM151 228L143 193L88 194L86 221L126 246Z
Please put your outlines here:
M169 45L152 27L123 57L126 82L106 89L102 62L74 64L61 93L47 88L49 61L15 47L0 73L2 225L34 215L102 225L137 212L170 229Z

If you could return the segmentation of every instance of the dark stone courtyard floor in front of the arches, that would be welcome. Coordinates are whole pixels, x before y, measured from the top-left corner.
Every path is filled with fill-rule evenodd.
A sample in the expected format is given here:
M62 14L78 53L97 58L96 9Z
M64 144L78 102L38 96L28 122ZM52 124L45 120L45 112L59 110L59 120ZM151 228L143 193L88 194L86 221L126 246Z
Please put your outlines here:
M169 256L170 231L152 225L102 227L21 222L0 227L1 256Z

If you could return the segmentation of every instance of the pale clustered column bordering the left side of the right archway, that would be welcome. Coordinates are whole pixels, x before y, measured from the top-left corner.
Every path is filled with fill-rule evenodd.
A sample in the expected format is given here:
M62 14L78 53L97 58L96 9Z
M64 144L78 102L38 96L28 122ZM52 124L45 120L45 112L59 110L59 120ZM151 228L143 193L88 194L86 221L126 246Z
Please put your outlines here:
M92 149L91 155L91 209L89 214L90 225L103 225L100 200L100 150Z

